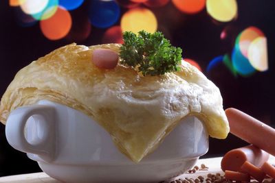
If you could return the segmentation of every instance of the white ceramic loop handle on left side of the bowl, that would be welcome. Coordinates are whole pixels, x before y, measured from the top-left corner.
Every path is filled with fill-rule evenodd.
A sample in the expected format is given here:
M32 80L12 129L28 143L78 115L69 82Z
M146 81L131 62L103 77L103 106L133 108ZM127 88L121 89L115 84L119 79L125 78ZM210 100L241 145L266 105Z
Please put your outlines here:
M30 117L34 119L33 123L27 123ZM5 136L14 149L36 154L46 162L51 162L55 151L55 121L55 109L52 106L23 106L10 113ZM25 134L32 139L26 138Z

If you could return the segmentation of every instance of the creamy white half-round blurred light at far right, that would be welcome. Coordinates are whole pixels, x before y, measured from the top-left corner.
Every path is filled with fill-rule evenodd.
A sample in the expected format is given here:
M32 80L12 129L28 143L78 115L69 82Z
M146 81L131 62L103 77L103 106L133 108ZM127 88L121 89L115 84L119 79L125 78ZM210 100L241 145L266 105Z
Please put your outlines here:
M254 39L248 49L248 60L258 71L267 71L267 39L260 36Z

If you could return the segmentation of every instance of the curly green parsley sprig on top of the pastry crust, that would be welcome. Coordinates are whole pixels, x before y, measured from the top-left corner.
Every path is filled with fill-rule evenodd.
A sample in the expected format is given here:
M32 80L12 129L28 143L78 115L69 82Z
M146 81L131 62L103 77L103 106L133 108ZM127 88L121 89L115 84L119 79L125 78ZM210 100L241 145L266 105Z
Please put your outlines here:
M179 71L180 48L173 47L161 32L145 31L134 34L124 32L124 44L120 47L121 63L132 66L142 75L163 75Z

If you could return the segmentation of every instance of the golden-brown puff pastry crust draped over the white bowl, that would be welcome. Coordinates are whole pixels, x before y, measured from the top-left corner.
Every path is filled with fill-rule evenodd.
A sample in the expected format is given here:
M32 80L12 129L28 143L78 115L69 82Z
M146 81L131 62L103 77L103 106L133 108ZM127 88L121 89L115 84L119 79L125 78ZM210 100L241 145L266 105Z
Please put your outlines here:
M120 64L99 69L91 62L97 48L119 52L120 45L71 44L21 69L1 99L0 121L5 124L19 106L55 101L97 121L134 162L151 153L187 115L203 121L214 138L228 135L219 88L188 62L182 62L181 71L144 77Z

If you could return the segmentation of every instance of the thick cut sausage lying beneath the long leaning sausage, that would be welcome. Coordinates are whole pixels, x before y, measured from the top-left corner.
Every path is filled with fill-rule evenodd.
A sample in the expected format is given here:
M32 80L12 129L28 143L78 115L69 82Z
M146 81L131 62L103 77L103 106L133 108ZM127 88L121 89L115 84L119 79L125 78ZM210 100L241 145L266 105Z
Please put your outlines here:
M254 145L248 145L228 151L221 159L223 171L241 171L241 165L248 161L256 167L261 167L270 158L270 154Z

